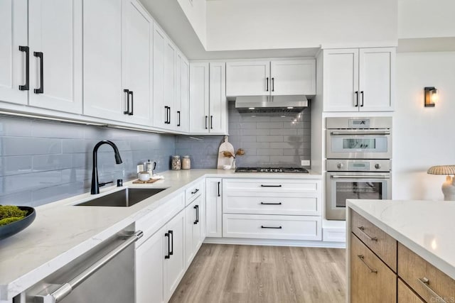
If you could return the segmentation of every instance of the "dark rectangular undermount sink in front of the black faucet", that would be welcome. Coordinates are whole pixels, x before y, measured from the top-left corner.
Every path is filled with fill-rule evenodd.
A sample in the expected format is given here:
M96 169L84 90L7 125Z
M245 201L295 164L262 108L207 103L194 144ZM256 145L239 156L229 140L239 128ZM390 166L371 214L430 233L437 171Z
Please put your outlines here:
M164 191L166 188L126 188L119 192L112 192L105 196L92 199L87 202L75 204L75 206L122 206L128 207L137 204L154 194Z

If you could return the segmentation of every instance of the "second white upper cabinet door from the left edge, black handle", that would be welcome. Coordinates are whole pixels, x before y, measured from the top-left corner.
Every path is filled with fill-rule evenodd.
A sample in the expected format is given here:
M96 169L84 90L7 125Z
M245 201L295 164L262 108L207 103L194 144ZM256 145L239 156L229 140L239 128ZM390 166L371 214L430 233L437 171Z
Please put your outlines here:
M29 105L82 113L82 0L28 1Z

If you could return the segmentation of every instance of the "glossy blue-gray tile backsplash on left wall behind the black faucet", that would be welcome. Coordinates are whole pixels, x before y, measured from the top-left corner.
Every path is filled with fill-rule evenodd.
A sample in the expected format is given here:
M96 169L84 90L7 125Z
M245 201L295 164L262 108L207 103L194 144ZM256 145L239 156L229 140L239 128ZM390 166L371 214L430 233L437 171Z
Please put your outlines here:
M93 147L106 139L123 163L102 145L100 182L132 180L136 165L149 159L157 172L168 170L176 150L175 136L0 116L0 204L38 206L88 192Z

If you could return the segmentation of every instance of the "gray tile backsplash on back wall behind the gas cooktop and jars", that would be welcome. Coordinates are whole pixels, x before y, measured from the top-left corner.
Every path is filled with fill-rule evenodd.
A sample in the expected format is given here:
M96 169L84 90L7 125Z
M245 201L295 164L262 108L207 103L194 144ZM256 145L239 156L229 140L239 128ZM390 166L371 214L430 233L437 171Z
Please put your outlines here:
M229 102L229 141L234 149L243 148L237 166L300 167L301 160L310 159L310 109L295 117L252 116L239 114ZM190 155L191 167L215 168L218 148L224 136L177 136L176 154Z

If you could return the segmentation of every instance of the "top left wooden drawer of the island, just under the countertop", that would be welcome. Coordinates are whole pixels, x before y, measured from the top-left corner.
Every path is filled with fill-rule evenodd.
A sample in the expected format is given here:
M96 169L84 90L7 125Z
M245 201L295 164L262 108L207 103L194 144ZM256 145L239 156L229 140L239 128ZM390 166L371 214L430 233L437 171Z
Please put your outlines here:
M397 272L397 241L367 219L350 210L350 229L385 264Z

